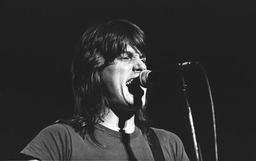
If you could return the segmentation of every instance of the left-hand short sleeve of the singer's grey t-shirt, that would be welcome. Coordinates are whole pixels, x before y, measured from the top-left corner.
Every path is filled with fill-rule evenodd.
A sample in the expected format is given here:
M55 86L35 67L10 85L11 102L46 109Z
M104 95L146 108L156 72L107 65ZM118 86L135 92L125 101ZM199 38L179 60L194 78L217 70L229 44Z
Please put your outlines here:
M56 124L39 132L20 153L40 160L68 160L71 153L70 145L67 127Z

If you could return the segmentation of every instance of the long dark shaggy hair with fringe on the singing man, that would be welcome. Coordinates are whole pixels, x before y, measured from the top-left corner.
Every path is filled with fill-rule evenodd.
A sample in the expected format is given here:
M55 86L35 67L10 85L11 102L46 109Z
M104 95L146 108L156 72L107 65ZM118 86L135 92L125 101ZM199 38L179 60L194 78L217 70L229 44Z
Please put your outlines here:
M105 111L108 100L103 95L100 72L120 56L128 44L134 50L146 53L145 34L127 20L113 20L92 26L77 43L71 70L75 112L66 123L83 139L88 134L94 143L99 144L93 135L95 124L102 121L102 116L108 112ZM135 124L148 141L145 107L135 114Z

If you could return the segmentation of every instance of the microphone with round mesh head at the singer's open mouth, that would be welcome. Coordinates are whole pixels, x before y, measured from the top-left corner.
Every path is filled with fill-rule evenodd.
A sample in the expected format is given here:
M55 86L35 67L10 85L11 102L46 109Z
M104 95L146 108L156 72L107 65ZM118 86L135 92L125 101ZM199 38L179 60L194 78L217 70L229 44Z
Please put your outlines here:
M163 83L165 79L171 74L176 77L177 72L186 71L191 69L191 67L198 65L198 62L184 62L173 66L173 68L168 68L167 70L151 71L143 70L139 77L136 78L136 83L143 88L148 88L154 84Z

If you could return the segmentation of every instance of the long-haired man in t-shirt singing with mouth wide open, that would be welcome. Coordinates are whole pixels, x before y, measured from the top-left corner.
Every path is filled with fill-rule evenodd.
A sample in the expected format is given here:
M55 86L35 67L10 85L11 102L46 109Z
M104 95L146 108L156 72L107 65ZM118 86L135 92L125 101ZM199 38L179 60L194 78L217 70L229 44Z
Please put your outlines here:
M189 160L177 135L151 128L145 35L127 20L87 29L72 61L74 115L44 128L20 153L36 160Z

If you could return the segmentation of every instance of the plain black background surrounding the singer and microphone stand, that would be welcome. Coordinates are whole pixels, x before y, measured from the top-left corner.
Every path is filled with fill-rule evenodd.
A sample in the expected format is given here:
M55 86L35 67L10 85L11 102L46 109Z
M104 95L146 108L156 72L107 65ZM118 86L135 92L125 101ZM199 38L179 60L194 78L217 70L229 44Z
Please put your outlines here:
M73 112L70 63L93 22L131 20L148 38L148 68L198 61L214 100L220 160L255 153L255 1L5 1L1 47L1 159L16 159L42 128ZM191 157L185 104L172 73L149 90L153 127L177 135ZM166 79L167 80L167 79ZM171 81L170 81L171 80ZM202 70L186 73L196 137L214 160L212 114Z

